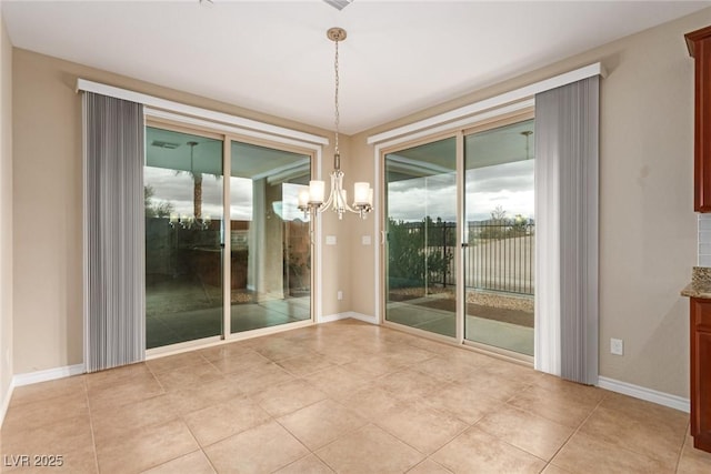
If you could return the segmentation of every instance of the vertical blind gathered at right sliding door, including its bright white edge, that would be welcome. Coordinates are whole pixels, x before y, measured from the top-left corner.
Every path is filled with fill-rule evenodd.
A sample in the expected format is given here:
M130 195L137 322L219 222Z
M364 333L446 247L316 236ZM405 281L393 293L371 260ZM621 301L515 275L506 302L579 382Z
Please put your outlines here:
M535 369L598 383L598 75L535 94Z

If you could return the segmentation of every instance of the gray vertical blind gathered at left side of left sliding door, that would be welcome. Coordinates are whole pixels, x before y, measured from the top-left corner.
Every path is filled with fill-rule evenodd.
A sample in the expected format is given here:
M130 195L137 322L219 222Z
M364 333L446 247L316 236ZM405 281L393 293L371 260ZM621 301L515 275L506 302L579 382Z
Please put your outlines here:
M143 107L83 94L87 372L146 357Z

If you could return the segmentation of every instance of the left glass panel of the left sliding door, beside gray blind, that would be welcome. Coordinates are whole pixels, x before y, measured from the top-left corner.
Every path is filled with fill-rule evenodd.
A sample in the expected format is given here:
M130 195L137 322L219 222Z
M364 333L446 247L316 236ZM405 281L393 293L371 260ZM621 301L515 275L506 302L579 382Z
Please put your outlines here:
M146 346L222 333L222 141L146 129Z

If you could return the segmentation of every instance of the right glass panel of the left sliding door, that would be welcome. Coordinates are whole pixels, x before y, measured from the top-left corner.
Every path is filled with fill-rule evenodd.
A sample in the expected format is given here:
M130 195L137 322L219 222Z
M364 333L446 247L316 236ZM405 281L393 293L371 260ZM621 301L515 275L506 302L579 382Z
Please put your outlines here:
M309 155L231 144L233 333L311 317L310 224L297 209L310 177Z

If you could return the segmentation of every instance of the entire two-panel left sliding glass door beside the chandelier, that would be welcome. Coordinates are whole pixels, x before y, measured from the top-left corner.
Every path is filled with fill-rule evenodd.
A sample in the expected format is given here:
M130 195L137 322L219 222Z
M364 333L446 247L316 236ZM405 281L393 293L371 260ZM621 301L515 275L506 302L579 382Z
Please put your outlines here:
M297 209L311 157L146 137L147 349L311 319L310 222Z

